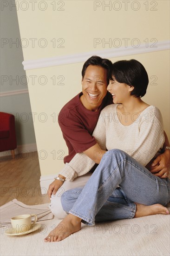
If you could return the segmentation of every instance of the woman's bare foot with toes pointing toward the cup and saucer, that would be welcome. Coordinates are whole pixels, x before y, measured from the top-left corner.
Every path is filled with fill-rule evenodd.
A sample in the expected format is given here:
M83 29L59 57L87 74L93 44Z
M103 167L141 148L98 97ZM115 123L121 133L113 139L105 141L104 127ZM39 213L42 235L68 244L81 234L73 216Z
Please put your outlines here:
M81 229L81 219L72 214L67 215L55 229L53 229L44 242L59 242Z

